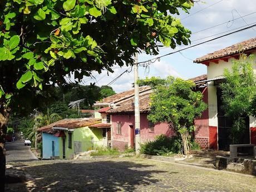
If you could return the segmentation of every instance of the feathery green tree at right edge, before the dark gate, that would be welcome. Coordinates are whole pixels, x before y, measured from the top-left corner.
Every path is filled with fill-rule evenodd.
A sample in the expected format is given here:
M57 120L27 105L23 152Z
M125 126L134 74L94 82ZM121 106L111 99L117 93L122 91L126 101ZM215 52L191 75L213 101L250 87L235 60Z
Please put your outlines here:
M240 56L231 70L225 68L225 81L220 84L225 116L233 121L232 141L237 144L245 128L245 117L256 116L256 77L253 55Z

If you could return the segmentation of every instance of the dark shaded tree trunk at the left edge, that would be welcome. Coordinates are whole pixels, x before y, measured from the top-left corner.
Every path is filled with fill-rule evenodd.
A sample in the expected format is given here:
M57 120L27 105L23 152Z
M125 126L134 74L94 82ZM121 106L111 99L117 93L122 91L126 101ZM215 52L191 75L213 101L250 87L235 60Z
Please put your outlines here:
M6 149L4 146L4 135L7 132L9 112L6 109L0 110L0 191L4 191L6 174Z

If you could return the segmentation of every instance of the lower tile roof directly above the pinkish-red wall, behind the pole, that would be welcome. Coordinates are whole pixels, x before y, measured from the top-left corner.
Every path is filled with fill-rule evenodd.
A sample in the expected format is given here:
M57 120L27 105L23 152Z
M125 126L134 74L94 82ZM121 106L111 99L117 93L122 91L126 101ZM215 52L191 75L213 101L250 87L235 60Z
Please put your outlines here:
M140 104L140 112L148 112L150 110L150 94L147 93L145 95L140 95L139 104ZM120 107L111 109L107 111L109 114L115 113L126 113L126 112L134 112L134 99L127 100L122 103Z

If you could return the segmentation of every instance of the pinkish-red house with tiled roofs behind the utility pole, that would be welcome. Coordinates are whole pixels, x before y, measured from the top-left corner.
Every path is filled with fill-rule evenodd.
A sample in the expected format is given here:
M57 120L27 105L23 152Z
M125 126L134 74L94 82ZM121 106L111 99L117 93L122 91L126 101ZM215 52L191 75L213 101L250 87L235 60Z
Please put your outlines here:
M206 75L195 77L193 81L206 80ZM201 83L198 84L199 86ZM203 89L199 88L203 91ZM154 140L156 135L165 134L172 136L175 132L167 123L152 124L147 120L150 111L150 94L152 90L148 86L140 87L140 137L141 143ZM102 122L111 124L111 146L119 150L135 145L135 118L134 118L134 90L117 93L107 97L94 105L98 108L95 117L100 117ZM197 122L202 123L200 119Z

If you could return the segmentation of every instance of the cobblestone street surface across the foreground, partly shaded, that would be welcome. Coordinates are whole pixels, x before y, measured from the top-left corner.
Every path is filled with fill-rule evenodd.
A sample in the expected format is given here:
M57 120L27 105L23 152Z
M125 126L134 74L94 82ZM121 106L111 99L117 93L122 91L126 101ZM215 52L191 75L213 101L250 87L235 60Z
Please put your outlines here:
M256 178L124 157L13 163L33 180L7 191L256 191Z

